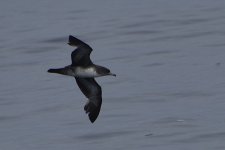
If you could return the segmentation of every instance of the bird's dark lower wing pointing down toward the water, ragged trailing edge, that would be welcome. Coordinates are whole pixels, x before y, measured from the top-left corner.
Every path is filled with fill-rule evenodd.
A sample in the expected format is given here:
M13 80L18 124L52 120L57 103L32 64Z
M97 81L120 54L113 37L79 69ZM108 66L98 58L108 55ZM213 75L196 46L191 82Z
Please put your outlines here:
M75 79L82 93L89 99L84 106L84 110L88 114L90 121L93 123L97 119L102 105L101 87L94 78L75 77Z

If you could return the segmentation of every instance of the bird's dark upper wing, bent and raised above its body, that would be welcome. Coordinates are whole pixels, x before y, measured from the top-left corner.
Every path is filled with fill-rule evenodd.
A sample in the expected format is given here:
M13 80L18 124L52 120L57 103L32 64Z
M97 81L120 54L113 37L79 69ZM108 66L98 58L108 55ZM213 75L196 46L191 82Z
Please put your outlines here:
M86 67L88 65L93 64L90 59L92 48L88 44L75 38L72 35L69 36L68 44L77 47L77 49L75 49L71 53L72 66Z

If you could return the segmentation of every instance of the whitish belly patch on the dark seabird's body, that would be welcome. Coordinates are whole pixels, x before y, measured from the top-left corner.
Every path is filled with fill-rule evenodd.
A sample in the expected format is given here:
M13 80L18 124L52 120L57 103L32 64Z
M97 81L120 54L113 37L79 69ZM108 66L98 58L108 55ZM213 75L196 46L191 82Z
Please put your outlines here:
M81 68L76 67L75 76L77 77L99 77L94 68Z

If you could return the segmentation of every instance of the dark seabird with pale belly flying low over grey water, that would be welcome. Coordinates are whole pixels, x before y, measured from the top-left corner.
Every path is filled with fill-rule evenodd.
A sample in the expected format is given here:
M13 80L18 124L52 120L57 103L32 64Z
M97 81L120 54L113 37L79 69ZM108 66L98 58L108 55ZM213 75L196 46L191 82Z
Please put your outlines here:
M76 47L71 53L71 65L63 68L51 68L49 73L72 76L75 78L78 87L84 96L88 99L84 106L91 123L97 119L102 105L102 88L96 82L95 77L116 76L103 66L95 65L90 59L92 48L80 39L69 35L70 46Z

